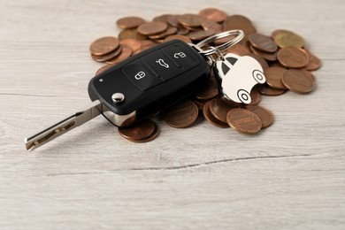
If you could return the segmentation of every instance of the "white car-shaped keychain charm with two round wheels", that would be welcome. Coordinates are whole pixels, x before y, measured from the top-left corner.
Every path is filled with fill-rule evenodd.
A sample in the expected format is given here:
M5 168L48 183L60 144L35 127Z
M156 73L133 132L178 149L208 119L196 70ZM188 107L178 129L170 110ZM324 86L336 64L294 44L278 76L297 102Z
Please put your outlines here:
M255 58L234 53L222 55L216 61L214 73L219 80L220 94L236 103L250 103L251 89L266 81L263 68Z

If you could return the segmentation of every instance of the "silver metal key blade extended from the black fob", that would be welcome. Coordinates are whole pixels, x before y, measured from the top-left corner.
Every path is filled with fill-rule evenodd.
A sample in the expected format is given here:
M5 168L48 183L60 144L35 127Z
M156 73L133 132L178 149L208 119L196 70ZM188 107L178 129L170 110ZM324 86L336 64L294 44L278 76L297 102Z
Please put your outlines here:
M57 124L50 126L42 132L25 138L24 142L27 150L31 151L36 149L57 138L59 135L72 130L74 127L80 126L88 120L96 118L101 114L102 110L103 104L98 100L94 101L87 110L75 112L70 117L59 121Z

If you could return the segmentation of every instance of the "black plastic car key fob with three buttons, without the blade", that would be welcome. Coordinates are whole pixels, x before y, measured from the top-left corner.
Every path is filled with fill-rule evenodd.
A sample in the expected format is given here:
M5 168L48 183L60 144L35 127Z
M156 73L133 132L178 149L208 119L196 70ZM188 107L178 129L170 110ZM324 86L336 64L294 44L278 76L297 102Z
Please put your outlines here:
M112 124L129 126L190 96L209 76L210 65L196 48L173 40L97 75L88 95L103 103L102 114Z

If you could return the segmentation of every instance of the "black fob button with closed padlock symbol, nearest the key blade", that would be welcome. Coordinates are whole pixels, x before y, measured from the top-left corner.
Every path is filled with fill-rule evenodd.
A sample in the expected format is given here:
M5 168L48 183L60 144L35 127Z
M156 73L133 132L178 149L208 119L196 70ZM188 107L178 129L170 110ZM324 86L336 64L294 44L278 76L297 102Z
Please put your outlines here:
M123 66L122 72L132 81L134 86L142 91L157 86L163 80L159 79L157 73L153 73L146 65L143 65L140 58Z

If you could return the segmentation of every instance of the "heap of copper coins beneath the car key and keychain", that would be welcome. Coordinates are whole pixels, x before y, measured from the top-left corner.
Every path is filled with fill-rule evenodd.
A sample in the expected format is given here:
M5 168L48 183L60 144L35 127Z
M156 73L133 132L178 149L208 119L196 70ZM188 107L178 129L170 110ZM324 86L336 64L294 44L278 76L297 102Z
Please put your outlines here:
M306 94L315 86L311 71L321 66L321 61L310 50L305 49L302 36L288 30L274 30L271 35L257 33L254 24L242 15L227 15L219 9L207 8L198 14L163 14L151 21L140 17L126 17L116 21L121 28L118 36L106 36L90 45L91 58L105 62L96 74L134 54L147 50L161 42L180 39L196 43L211 35L232 29L242 29L242 42L224 52L239 56L250 56L262 65L266 83L250 92L249 105L224 100L219 96L218 82L211 72L205 88L188 100L176 103L162 112L168 126L182 128L192 126L199 111L212 125L231 126L244 134L256 134L272 124L272 112L257 105L261 95L279 96L287 90ZM215 41L215 45L229 38ZM149 142L158 134L155 122L146 119L136 126L121 127L119 134L132 142Z

